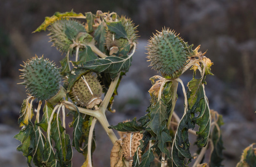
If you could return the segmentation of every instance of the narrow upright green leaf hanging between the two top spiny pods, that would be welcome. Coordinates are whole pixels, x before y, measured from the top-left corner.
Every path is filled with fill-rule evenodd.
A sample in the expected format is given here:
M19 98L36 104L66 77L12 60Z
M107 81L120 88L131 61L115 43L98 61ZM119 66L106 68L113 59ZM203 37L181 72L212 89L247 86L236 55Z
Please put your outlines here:
M103 24L100 24L94 32L94 40L97 41L96 47L105 53L105 36L106 30Z

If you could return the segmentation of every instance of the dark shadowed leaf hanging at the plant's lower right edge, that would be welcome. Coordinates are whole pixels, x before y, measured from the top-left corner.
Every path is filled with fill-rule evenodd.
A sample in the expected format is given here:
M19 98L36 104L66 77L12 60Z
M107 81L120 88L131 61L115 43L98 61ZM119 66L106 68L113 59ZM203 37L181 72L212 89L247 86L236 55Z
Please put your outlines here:
M214 148L212 148L212 151L211 151L209 166L219 167L219 166L223 166L221 165L221 161L224 159L223 157L224 147L223 147L223 140L222 140L222 135L220 131L220 126L223 125L224 122L223 122L222 115L219 115L216 111L211 111L211 115L212 115L212 112L216 113L217 120L214 120L216 124L214 125L214 128L211 131L211 135L210 135Z

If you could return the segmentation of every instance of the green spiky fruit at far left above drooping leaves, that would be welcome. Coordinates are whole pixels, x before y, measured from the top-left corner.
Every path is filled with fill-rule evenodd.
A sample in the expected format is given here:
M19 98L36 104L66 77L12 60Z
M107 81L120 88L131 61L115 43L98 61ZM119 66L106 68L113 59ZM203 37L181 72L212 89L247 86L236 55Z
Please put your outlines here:
M24 81L20 84L26 85L29 94L38 100L49 100L57 95L61 88L61 75L54 63L44 56L36 56L21 66L23 73L20 78Z

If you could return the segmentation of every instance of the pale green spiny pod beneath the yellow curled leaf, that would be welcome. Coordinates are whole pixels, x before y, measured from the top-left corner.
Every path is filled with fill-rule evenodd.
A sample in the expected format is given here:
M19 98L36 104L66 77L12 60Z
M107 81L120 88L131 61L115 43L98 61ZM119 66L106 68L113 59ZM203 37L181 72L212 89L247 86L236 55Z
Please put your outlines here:
M76 39L80 32L86 32L85 27L80 22L74 19L61 19L51 24L48 28L50 31L51 42L53 46L60 52L68 52L73 48L70 45Z

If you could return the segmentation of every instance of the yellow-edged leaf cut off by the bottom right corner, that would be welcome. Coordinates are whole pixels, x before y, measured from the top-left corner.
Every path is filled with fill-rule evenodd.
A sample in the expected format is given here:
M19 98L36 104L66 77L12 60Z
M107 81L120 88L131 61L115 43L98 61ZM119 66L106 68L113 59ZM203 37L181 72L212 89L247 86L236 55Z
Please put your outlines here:
M236 167L256 166L256 149L253 148L253 145L255 145L255 143L244 149L241 159Z

